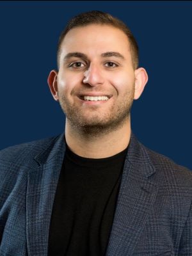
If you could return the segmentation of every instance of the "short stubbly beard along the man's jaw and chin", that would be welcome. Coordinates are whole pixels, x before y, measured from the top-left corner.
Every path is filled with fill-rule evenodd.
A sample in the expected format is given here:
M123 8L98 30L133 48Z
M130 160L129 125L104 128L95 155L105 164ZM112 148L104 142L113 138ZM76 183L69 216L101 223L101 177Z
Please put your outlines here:
M97 106L89 106L92 108L92 113L86 115L83 108L71 104L65 95L59 93L60 106L70 126L81 134L92 137L109 134L122 127L130 118L133 98L134 88L128 91L118 103L110 106L108 111L104 112Z

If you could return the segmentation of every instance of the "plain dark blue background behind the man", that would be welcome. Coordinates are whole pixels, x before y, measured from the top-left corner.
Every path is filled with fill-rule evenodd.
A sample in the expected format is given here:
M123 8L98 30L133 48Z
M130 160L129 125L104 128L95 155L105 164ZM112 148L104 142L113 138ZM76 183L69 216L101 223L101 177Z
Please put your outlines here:
M147 147L192 169L188 1L1 1L0 148L63 131L65 116L47 76L67 20L88 10L124 20L138 40L149 81L132 107L132 130Z

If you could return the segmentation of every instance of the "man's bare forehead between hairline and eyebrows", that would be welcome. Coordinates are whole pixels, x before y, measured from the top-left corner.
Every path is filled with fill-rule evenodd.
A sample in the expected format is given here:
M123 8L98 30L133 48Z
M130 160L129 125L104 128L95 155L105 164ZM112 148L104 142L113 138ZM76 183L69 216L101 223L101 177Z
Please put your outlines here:
M83 52L97 55L102 52L120 52L129 58L130 46L125 33L113 26L91 24L68 31L61 44L61 55L68 52Z

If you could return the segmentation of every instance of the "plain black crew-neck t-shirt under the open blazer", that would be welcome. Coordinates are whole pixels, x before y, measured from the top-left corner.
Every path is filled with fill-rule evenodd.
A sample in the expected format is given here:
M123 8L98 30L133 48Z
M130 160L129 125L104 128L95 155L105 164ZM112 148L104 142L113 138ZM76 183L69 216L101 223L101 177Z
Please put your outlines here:
M88 159L67 148L52 209L49 256L105 255L126 152Z

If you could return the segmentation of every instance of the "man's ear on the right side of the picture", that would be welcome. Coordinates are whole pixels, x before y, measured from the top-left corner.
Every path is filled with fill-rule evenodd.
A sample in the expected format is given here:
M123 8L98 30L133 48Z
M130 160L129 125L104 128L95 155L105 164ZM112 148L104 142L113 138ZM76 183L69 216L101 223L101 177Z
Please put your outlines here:
M145 88L145 84L148 81L148 75L145 68L138 68L134 71L135 74L135 88L134 88L134 100L139 99L141 93Z

